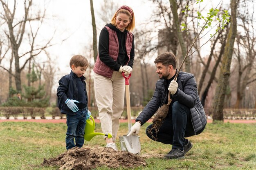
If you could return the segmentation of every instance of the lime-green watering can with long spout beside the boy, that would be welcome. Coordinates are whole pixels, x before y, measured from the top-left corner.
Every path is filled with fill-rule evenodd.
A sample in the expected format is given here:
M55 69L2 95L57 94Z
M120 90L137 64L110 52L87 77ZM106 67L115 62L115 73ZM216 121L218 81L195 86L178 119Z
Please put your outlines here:
M90 116L90 118L91 119L86 120L86 125L85 125L85 130L84 130L84 132L85 132L84 139L85 140L90 141L96 135L104 135L104 136L107 136L108 138L112 138L112 135L110 133L104 134L104 133L94 132L95 122L94 122L92 115Z

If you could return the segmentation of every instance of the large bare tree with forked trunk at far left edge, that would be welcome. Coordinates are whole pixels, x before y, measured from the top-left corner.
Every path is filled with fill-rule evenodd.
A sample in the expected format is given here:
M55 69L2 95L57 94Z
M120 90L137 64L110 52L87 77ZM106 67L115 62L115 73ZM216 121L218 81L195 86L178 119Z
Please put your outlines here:
M31 60L33 57L41 53L43 49L46 49L47 47L50 46L49 44L50 40L49 40L48 42L45 43L44 46L38 46L32 49L29 49L29 51L25 53L20 52L21 51L20 46L24 44L22 40L24 39L24 35L26 33L27 22L42 23L43 18L45 16L45 11L43 12L43 14L40 12L34 13L33 11L35 15L33 15L32 17L31 15L29 15L30 13L32 13L31 11L33 10L32 0L24 0L24 3L23 3L24 15L20 16L19 13L16 13L16 9L17 9L17 5L21 5L21 4L16 2L16 0L14 0L13 7L11 8L9 7L8 2L5 2L4 0L0 0L0 2L3 8L3 11L1 11L0 16L7 24L8 31L4 31L4 32L10 41L11 51L12 51L13 59L15 62L14 63L15 74L13 75L15 77L16 90L20 92L21 91L21 78L20 78L21 71L25 68L29 60ZM32 33L30 35L32 35ZM37 33L34 35L34 39L37 35L38 35ZM30 56L27 57L29 53L30 53ZM25 60L23 64L20 63L21 59ZM6 68L4 68L4 70L9 72L9 70Z

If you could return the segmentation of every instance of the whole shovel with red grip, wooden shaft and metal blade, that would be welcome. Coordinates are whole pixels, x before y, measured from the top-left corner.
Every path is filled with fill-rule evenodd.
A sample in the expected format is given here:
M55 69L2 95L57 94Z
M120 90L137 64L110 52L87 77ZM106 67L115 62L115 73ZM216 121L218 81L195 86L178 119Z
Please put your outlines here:
M127 117L128 117L128 133L131 130L132 127L132 119L131 119L131 108L130 108L130 90L129 90L129 78L131 74L126 77L124 75L124 72L122 72L122 75L125 79L125 90L126 90L126 106L127 106ZM139 143L139 137L136 135L130 135L127 137L127 135L123 135L124 137L124 143L126 146L126 149L128 152L133 154L139 154L140 152L140 143Z

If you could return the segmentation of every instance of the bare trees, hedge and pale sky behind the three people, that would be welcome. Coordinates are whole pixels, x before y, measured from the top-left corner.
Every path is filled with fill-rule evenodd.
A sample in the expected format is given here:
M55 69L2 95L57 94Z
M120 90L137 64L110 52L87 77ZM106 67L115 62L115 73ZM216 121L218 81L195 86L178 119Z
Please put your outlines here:
M130 100L135 117L153 95L158 80L153 64L155 57L172 51L179 67L202 29L202 16L207 18L209 13L216 12L212 24L207 25L209 28L200 33L193 44L182 71L195 75L208 116L216 120L228 117L255 119L256 18L253 0L220 0L218 3L211 0L0 2L0 108L3 117L14 114L16 118L16 114L23 114L24 118L35 118L43 114L40 117L45 118L45 112L58 115L58 80L70 73L69 60L75 54L84 55L90 61L85 77L89 108L97 116L92 71L97 40L116 9L128 5L134 10L136 23L132 31L135 61L130 78ZM225 10L231 20L222 25L217 18L222 21Z

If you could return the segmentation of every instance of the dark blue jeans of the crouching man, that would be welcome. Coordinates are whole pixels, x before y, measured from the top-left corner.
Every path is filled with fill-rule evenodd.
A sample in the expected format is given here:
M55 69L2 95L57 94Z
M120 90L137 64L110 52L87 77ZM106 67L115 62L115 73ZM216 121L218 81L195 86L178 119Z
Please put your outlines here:
M155 140L149 133L148 129L152 128L149 125L146 129L146 135ZM202 130L196 134L200 134ZM172 148L179 148L183 150L184 137L190 137L195 135L194 128L191 122L190 109L180 102L174 102L172 106L172 114L167 115L162 126L159 128L157 134L153 130L153 136L157 138L155 141L162 142L163 144L172 144Z

